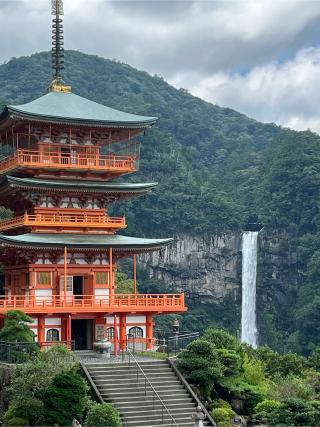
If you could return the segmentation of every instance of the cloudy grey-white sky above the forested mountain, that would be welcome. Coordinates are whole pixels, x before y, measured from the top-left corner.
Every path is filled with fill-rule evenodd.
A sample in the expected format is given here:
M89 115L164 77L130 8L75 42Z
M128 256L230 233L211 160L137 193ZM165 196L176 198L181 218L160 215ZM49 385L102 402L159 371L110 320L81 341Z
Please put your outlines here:
M50 3L0 0L0 63L49 50ZM64 11L66 49L320 133L320 0L64 0Z

